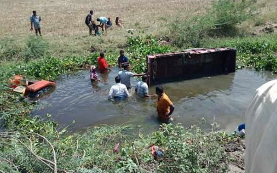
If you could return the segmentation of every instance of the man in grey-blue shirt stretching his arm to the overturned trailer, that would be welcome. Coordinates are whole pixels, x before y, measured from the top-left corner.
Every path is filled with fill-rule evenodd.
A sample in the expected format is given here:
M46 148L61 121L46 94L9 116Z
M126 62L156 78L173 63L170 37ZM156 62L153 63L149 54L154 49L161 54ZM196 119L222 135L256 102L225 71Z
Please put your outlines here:
M129 64L123 64L123 70L118 72L118 76L121 79L121 84L126 85L127 89L131 88L131 79L130 79L131 77L143 76L143 75L145 75L145 73L136 74L136 73L130 72Z

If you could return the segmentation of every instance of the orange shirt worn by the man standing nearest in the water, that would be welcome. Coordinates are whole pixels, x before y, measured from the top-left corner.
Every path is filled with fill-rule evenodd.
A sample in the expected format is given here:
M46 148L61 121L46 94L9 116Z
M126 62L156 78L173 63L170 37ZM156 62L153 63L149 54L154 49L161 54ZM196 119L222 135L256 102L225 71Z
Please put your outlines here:
M158 99L158 104L157 104L157 112L158 112L159 118L163 120L167 120L170 118L170 116L165 115L166 113L170 112L169 106L173 106L173 103L171 102L169 97L165 93L163 93L162 97Z

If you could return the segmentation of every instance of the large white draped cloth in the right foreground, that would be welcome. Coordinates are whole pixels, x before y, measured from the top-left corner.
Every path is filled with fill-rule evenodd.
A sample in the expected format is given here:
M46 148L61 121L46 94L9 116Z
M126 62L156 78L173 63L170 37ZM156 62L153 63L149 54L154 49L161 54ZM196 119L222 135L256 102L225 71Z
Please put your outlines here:
M246 110L246 173L277 172L277 80L260 86Z

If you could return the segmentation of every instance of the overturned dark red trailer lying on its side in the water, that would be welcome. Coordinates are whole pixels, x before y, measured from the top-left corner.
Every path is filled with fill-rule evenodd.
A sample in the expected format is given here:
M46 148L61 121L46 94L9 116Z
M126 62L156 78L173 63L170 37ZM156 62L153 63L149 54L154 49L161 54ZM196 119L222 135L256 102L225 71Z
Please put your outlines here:
M235 72L236 52L233 48L196 48L148 55L147 83L156 85Z

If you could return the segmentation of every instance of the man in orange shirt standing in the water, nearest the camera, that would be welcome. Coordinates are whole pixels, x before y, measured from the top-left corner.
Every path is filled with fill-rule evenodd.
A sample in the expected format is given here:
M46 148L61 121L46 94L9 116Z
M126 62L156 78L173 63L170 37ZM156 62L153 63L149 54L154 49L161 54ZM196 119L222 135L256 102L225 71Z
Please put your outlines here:
M156 94L158 95L157 112L158 117L165 122L170 121L171 114L175 107L169 97L164 93L162 86L156 86Z

